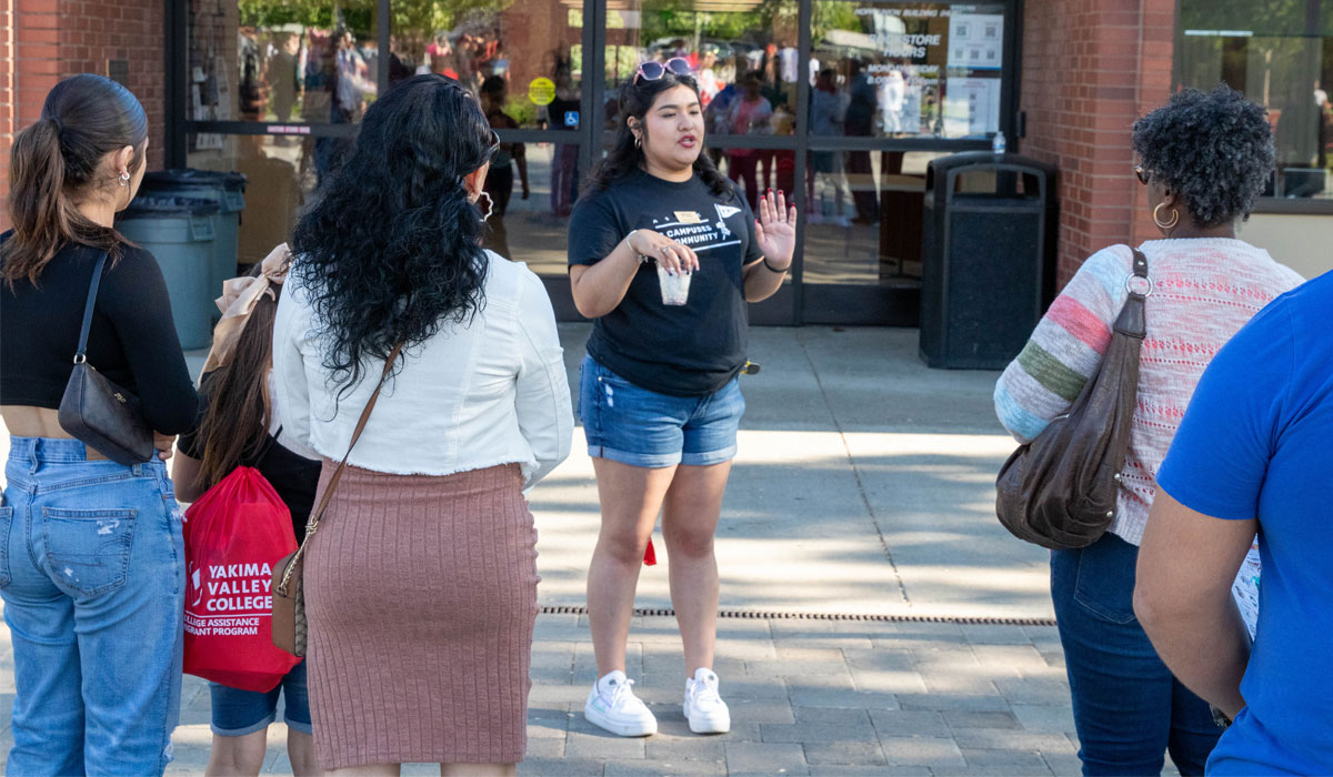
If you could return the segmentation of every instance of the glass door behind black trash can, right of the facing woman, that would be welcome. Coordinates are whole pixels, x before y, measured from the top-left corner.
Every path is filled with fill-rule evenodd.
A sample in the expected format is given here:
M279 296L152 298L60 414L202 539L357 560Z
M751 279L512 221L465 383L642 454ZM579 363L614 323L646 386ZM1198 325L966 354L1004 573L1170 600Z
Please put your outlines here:
M814 3L801 320L916 325L929 161L1009 131L1006 3Z

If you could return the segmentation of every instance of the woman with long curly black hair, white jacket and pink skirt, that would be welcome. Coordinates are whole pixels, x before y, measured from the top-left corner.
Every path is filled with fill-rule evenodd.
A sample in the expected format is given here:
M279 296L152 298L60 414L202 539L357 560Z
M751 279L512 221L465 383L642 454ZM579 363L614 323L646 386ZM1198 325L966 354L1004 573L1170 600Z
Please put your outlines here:
M457 81L404 81L292 244L275 323L284 433L328 488L308 541L309 693L320 766L512 773L527 744L537 614L523 489L569 452L573 417L541 281L480 247L496 141Z

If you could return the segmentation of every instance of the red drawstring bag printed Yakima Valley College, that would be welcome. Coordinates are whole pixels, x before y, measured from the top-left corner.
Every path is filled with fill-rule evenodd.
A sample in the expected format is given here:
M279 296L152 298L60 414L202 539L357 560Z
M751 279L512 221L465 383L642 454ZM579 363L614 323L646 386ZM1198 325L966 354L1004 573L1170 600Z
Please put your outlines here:
M268 692L301 660L273 646L273 564L296 550L292 512L253 466L185 510L185 673Z

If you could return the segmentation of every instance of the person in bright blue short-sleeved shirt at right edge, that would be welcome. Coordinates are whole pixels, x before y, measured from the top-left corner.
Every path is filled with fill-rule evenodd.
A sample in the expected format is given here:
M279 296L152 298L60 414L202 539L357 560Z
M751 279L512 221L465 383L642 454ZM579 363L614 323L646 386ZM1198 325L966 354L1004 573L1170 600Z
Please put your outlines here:
M1134 612L1234 721L1209 774L1333 774L1333 273L1274 300L1208 367L1157 474ZM1254 534L1253 646L1232 580Z

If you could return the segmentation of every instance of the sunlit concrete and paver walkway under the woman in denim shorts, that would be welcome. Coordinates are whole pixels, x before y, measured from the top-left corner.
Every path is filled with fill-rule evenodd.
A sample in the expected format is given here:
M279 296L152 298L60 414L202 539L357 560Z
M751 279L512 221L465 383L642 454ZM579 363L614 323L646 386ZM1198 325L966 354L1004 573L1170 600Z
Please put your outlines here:
M588 331L561 325L575 392ZM636 618L628 669L661 732L623 740L583 720L595 669L576 608L599 512L575 430L573 456L531 494L549 614L537 620L521 773L1078 772L1046 553L1010 538L993 513L994 472L1013 448L992 410L997 373L928 371L916 337L752 332L762 372L742 379L748 410L717 540L726 616L716 668L730 734L688 732L680 640L660 616ZM192 355L196 371L201 361ZM647 610L670 606L660 536L657 546L663 565L639 586ZM0 693L12 694L8 650L0 672ZM199 773L207 688L187 678L183 701L172 770ZM281 738L279 724L267 772L289 770Z

